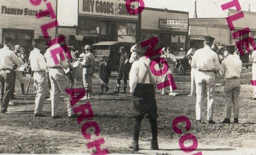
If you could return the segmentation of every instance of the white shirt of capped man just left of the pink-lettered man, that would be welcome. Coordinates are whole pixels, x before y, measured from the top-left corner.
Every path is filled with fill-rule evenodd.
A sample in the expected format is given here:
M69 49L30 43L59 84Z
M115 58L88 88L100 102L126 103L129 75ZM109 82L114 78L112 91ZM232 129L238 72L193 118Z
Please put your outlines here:
M34 48L33 51L30 52L29 58L31 70L32 71L46 71L47 65L44 60L44 56L40 53L40 50L37 48Z

